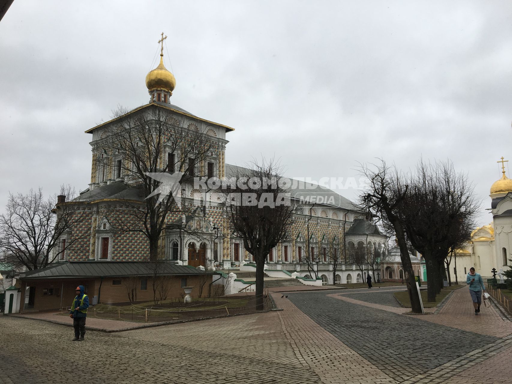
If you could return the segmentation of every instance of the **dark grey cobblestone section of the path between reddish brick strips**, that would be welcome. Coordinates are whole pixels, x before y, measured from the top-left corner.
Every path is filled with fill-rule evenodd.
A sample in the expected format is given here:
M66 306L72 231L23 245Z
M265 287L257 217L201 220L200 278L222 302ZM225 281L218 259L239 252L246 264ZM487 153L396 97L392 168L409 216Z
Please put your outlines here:
M497 339L335 300L325 294L290 293L288 297L317 324L400 381Z

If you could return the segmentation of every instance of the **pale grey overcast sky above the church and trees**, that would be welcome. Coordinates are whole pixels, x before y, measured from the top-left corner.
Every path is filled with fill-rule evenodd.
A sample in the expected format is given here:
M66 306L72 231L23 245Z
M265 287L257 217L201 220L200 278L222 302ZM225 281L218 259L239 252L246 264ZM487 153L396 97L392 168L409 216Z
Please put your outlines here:
M148 102L163 31L171 101L236 129L228 163L275 155L319 180L449 158L487 224L496 162L512 161L511 16L510 1L15 0L0 22L0 206L87 188L84 131Z

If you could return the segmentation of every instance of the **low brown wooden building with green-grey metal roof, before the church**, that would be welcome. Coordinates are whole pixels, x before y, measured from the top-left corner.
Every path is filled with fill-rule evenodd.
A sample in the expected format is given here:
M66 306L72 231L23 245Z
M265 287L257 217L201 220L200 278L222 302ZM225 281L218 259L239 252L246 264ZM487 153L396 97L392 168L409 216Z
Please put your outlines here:
M165 284L167 298L182 297L183 287L194 287L191 296L209 295L212 272L172 262L67 262L22 273L22 292L28 303L20 308L40 311L71 305L78 285L86 288L91 305L153 300L153 282ZM200 288L202 287L202 289ZM160 290L161 291L161 290Z

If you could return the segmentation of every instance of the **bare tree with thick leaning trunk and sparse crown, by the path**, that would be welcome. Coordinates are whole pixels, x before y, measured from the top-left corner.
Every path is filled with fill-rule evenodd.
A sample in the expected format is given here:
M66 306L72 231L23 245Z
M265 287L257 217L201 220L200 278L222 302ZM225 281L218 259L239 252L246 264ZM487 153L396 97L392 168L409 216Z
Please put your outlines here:
M387 222L388 228L393 228L400 248L400 259L405 272L412 311L421 313L419 292L407 249L406 229L400 214L402 204L407 197L408 185L403 183L403 175L383 160L380 160L380 164L374 165L372 169L361 165L360 170L361 174L368 179L368 186L360 197L360 204L369 211L369 214Z

